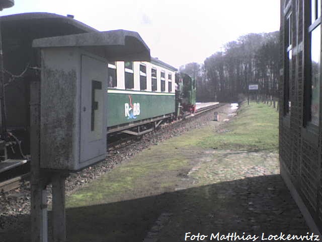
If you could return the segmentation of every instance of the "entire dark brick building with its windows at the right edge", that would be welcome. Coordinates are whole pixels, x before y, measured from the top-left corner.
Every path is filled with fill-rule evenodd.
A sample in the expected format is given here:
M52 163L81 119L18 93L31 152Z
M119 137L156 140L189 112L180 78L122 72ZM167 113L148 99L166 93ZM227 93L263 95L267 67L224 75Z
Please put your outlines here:
M322 231L321 1L281 0L281 174L308 225Z

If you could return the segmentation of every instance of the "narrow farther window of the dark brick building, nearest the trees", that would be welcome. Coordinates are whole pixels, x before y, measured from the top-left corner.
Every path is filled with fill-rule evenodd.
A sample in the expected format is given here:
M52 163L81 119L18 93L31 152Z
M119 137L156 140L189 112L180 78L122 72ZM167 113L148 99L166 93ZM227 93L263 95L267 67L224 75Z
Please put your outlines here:
M284 59L284 114L289 114L291 109L290 83L292 80L292 13L286 15L284 27L284 46L286 55L286 58Z

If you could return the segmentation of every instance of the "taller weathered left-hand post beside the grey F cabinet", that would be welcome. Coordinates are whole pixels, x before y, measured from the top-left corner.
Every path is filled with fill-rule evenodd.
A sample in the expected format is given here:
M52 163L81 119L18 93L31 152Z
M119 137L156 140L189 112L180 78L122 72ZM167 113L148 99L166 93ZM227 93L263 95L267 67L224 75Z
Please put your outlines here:
M30 84L31 241L48 241L47 180L40 170L40 81Z

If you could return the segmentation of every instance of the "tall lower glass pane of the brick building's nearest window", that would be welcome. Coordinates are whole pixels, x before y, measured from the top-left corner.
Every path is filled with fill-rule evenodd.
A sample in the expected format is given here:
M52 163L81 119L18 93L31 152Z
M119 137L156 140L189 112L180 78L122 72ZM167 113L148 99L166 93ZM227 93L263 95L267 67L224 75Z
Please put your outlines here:
M321 29L318 25L311 32L311 123L318 125L320 93Z

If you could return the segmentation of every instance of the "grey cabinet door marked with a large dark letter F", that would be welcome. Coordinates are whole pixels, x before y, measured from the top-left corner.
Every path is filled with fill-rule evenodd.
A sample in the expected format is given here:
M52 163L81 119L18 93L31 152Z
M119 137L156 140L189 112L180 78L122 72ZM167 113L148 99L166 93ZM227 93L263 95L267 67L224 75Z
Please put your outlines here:
M82 55L81 75L80 166L83 167L106 155L107 63Z

